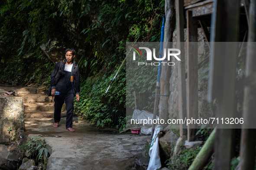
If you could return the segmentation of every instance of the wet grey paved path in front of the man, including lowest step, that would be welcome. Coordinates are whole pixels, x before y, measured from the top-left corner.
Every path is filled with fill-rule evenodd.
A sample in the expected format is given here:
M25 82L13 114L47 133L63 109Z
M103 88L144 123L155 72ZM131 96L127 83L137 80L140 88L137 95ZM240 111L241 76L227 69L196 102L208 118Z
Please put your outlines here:
M74 118L75 132L65 128L65 118L53 128L53 119L25 120L26 133L42 135L52 148L49 170L141 170L138 161L150 135L98 129Z

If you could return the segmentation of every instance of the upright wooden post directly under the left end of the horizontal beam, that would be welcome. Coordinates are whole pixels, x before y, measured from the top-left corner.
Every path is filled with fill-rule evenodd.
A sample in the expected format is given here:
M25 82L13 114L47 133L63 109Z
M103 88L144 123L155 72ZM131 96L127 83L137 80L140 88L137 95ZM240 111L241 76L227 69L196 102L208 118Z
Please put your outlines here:
M188 119L198 119L198 20L192 11L186 12L187 18L187 56L188 56ZM192 42L192 43L191 43ZM188 141L193 141L198 124L188 125Z

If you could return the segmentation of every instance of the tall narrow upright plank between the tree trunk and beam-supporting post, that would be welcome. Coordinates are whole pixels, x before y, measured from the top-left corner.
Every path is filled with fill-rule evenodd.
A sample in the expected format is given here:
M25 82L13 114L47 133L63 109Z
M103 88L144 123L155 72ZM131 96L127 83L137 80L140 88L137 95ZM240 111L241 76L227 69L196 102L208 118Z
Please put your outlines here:
M186 79L185 79L185 54L184 54L184 11L183 0L175 0L176 9L176 30L177 30L177 48L181 50L178 62L178 113L180 119L187 116L186 101ZM180 124L180 136L186 135L185 127Z

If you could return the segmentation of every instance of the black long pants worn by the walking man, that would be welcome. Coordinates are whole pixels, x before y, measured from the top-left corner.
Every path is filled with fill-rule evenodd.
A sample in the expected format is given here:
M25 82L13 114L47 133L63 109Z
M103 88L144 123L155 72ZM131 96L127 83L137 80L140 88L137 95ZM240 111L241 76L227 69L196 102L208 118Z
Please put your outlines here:
M54 98L54 122L58 123L61 120L62 105L66 103L67 118L66 118L66 129L72 127L73 121L73 110L74 110L74 94L59 94Z

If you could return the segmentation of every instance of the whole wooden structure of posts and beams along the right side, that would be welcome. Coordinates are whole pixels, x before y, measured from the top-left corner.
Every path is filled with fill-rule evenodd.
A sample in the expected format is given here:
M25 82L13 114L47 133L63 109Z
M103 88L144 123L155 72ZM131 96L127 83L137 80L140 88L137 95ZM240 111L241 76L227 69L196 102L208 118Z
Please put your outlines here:
M184 51L184 46L179 44L179 42L184 42L184 19L186 18L187 23L187 41L196 42L198 35L198 23L203 29L204 36L210 47L209 42L238 42L246 41L246 33L242 33L243 29L248 29L252 27L251 31L255 34L255 23L256 21L250 20L256 18L256 2L252 0L253 3L249 3L249 0L175 0L176 8L176 28L177 28L177 48ZM253 10L253 13L249 17L249 7ZM209 22L211 22L211 36L207 29L209 27ZM249 25L249 26L248 26ZM254 27L252 26L254 25ZM246 31L247 32L247 31ZM238 36L240 35L240 37ZM249 30L250 35L250 30ZM256 41L256 38L252 38L251 41ZM186 99L186 81L185 81L185 54L181 53L181 62L178 65L178 105L179 105L179 117L180 119L190 119L191 117L198 117L198 54L191 53L191 49L197 48L192 46L194 44L188 45L188 99ZM236 90L236 67L237 58L239 56L239 49L232 49L230 46L224 44L222 47L226 53L222 54L217 49L220 45L216 44L211 46L213 55L210 58L210 78L208 82L208 99L209 101L214 98L218 99L218 115L223 117L236 117L236 100L235 100L235 90ZM229 52L227 54L227 51ZM256 51L254 50L254 55ZM252 53L251 53L252 55ZM247 55L248 56L248 55ZM252 57L252 56L251 56ZM255 58L255 57L254 57ZM221 60L221 62L219 62ZM253 64L256 64L255 59L251 58L252 63L250 63L251 70L248 71L247 77L255 74L256 70L253 69ZM217 64L218 63L218 64ZM246 63L246 67L249 63ZM256 68L254 66L254 68ZM254 71L253 71L254 70ZM249 78L248 78L249 79ZM246 83L242 83L247 85ZM252 88L252 87L251 87ZM251 94L247 94L246 98L256 98L255 88L247 90ZM253 96L254 95L254 96ZM188 101L188 104L186 102ZM251 101L250 101L251 102ZM252 114L254 105L249 107L249 112L246 115ZM188 105L188 109L186 108ZM248 111L247 110L247 111ZM255 112L255 110L254 110ZM250 117L250 116L249 116ZM250 118L248 118L250 120ZM255 119L254 119L255 120ZM216 141L215 141L215 161L214 169L216 170L226 170L230 169L230 160L232 158L232 139L234 134L234 129L229 126L230 129L225 129L227 127L222 127L222 125L217 129ZM246 127L246 126L245 126ZM188 126L188 141L193 141L197 126ZM249 132L255 132L255 130L243 129L242 139L241 139L241 151L240 151L240 169L246 169L245 167L254 167L254 148L255 148L255 133L253 135L253 142L248 142L250 139ZM186 134L184 127L180 126L180 135ZM246 147L249 145L250 147ZM244 148L244 150L243 150ZM249 153L251 149L252 152ZM243 151L242 151L243 150ZM250 157L250 158L249 158ZM250 160L250 161L249 161ZM250 162L250 163L248 163ZM247 166L246 166L247 165Z

